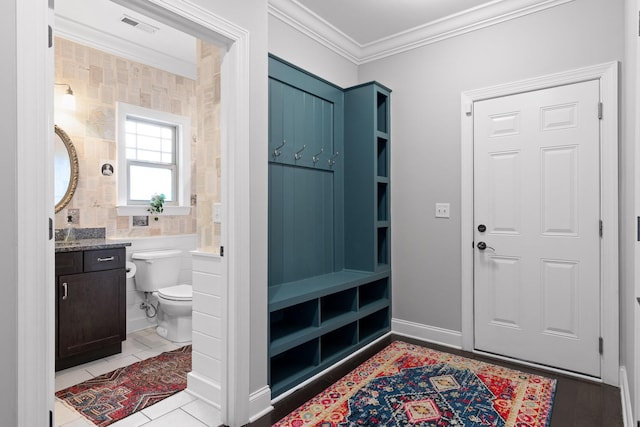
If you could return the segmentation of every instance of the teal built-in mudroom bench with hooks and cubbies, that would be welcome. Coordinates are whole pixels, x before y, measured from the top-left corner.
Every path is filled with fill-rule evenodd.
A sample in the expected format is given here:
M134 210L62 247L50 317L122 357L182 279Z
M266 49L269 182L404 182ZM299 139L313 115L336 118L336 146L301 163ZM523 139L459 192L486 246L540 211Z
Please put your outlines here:
M269 58L273 396L390 330L390 92Z

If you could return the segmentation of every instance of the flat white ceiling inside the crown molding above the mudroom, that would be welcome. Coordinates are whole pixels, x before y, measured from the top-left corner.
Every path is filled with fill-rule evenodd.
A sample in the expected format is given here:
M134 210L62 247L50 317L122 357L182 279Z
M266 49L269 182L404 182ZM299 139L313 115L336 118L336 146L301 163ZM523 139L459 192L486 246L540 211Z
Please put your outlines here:
M298 0L360 45L439 21L495 1L487 0Z

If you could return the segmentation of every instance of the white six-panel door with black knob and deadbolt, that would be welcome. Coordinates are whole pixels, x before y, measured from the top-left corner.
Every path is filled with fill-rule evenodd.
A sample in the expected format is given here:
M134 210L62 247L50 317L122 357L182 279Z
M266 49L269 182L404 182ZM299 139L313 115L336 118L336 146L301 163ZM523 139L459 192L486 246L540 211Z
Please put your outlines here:
M474 104L478 350L600 377L598 103L593 80Z

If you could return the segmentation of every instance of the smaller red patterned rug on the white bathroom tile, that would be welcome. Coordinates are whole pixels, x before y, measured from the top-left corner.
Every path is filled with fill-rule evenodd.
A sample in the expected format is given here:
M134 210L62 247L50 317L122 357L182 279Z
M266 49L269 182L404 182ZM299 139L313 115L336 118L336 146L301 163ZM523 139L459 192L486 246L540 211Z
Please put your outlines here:
M108 426L187 387L191 346L116 369L56 393L97 426Z

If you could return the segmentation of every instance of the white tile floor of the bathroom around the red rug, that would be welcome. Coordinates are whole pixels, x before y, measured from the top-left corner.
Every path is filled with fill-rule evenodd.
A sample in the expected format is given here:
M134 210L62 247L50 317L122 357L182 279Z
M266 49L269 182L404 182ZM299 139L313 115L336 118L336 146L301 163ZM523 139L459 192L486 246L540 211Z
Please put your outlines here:
M156 334L154 328L131 333L122 343L122 353L56 372L56 391L178 347L180 346ZM175 427L176 425L217 427L220 425L220 416L212 406L187 391L182 391L115 422L110 427ZM55 403L55 426L95 427L91 421L58 399Z

